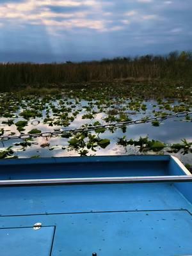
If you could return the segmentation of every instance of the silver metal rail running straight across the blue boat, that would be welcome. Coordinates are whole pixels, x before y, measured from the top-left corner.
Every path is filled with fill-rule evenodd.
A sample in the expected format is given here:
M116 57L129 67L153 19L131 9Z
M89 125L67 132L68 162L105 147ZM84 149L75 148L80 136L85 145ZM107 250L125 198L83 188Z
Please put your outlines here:
M4 187L4 186L77 185L77 184L83 185L83 184L165 183L165 182L168 182L168 183L192 182L192 175L0 180L0 187Z

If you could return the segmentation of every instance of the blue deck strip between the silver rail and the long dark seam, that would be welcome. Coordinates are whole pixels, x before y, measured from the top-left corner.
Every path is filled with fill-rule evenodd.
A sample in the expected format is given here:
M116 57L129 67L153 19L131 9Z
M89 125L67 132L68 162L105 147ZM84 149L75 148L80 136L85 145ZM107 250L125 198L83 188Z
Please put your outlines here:
M189 201L172 184L1 188L0 197L1 216L191 209Z

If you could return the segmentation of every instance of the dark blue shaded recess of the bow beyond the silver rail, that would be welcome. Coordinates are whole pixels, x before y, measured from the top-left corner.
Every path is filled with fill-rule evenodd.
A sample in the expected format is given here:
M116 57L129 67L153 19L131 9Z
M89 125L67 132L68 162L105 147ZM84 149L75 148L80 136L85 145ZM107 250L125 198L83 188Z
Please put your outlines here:
M61 157L0 161L0 179L167 175L168 156Z

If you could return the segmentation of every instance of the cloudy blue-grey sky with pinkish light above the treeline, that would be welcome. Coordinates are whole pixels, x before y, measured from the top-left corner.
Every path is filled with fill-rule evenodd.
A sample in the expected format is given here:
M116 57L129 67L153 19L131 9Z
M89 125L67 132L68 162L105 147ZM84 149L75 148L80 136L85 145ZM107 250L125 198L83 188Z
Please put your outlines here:
M192 0L0 0L0 61L190 51L191 13Z

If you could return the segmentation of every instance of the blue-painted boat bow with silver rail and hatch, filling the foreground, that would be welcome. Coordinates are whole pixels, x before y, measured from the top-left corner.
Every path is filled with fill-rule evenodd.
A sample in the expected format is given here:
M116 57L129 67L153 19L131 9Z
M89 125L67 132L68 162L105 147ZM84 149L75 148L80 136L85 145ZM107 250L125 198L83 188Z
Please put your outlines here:
M172 156L1 161L0 254L192 255L190 177Z

